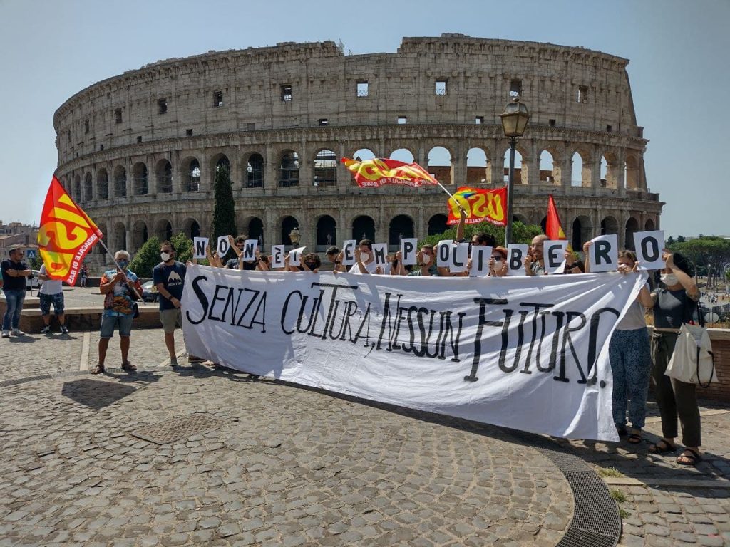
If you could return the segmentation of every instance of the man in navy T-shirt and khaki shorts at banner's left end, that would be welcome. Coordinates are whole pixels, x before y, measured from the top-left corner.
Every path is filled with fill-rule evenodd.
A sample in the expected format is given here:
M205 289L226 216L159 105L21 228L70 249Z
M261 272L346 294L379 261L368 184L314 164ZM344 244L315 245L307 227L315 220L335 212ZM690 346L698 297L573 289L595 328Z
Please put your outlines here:
M160 246L161 263L155 266L152 279L157 287L160 301L160 321L165 331L165 346L170 354L170 366L177 365L175 355L175 327L183 327L183 316L180 313L180 299L183 298L185 285L185 264L175 260L175 247L169 241ZM188 360L193 360L189 356Z

